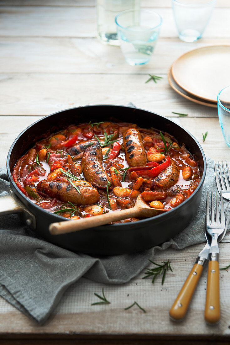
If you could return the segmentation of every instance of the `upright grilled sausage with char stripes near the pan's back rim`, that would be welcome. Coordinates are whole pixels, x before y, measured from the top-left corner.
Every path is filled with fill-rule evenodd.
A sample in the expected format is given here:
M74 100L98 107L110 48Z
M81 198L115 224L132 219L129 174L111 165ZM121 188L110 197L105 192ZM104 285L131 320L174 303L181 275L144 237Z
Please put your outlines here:
M139 130L130 128L123 134L126 160L130 167L146 166L147 157Z

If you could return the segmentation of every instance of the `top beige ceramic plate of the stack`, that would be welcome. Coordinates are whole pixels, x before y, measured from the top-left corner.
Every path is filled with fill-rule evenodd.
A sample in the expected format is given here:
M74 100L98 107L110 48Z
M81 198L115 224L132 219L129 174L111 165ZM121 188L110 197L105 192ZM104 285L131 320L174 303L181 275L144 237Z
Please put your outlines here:
M172 65L177 84L191 95L216 102L220 90L230 85L230 46L191 50Z

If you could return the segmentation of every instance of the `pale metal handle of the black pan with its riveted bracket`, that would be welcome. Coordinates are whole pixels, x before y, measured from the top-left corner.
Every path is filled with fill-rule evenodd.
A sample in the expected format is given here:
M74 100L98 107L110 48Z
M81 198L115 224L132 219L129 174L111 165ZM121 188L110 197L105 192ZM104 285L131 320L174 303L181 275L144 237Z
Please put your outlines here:
M26 223L31 229L36 229L36 218L14 195L12 189L10 189L9 194L0 197L0 216L13 213L20 213L24 223Z

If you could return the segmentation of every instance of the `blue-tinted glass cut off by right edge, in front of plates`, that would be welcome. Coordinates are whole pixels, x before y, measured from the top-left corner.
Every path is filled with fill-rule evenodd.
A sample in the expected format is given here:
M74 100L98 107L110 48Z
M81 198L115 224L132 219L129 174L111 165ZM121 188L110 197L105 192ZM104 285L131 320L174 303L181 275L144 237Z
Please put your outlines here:
M226 144L230 147L230 86L219 92L217 107L222 134Z

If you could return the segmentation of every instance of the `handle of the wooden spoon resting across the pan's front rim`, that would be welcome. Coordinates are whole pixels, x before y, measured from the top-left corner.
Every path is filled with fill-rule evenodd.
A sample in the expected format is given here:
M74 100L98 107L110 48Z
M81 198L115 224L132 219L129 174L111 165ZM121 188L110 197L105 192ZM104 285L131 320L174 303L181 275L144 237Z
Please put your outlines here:
M50 224L49 231L51 235L66 234L108 224L116 220L140 216L140 213L141 210L133 207L126 210L106 213L100 216L87 217L72 221L60 221L59 223Z

